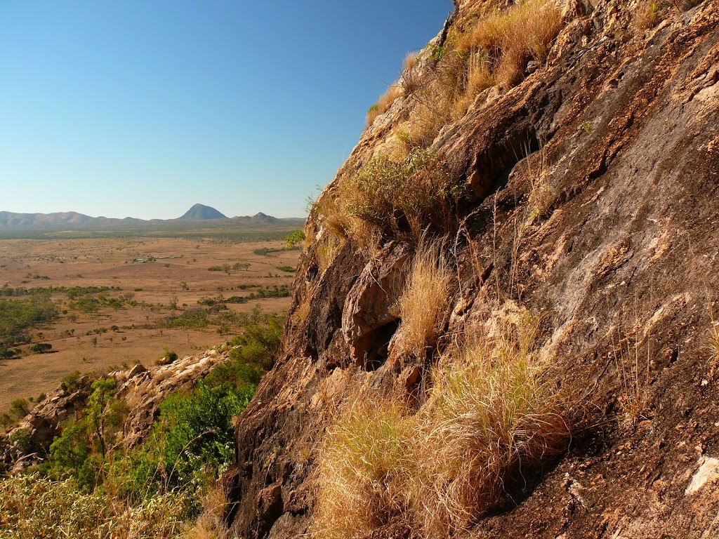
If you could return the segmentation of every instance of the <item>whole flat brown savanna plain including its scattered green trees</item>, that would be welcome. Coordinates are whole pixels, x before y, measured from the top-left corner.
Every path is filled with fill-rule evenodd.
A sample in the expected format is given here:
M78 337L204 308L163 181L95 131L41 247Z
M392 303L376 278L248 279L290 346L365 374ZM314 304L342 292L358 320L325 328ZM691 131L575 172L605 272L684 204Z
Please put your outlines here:
M298 253L281 240L0 239L2 329L15 333L0 359L0 410L75 371L208 349L257 305L283 313Z

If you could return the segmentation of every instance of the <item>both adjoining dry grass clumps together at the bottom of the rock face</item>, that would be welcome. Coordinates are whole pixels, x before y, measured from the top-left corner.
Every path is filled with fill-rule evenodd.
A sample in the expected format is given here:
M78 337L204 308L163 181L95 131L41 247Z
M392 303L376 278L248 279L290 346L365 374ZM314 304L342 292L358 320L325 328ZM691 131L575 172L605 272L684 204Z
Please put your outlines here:
M355 403L338 418L319 459L316 535L354 538L399 521L448 537L556 459L569 428L538 326L526 310L495 315L446 354L415 415Z

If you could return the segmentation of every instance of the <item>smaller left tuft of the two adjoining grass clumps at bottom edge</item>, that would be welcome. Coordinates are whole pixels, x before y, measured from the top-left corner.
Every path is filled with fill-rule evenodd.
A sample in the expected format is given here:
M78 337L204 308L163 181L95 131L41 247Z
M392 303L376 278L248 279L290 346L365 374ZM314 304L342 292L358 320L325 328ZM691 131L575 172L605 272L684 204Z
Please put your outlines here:
M354 402L329 428L319 456L316 538L363 537L403 512L403 421L391 403Z

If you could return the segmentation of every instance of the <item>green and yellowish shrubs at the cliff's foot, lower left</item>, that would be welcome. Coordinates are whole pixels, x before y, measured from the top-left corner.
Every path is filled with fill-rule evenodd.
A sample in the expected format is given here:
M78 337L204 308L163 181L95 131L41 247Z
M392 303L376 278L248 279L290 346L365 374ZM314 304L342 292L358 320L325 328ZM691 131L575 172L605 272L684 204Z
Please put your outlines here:
M217 501L216 479L234 456L232 418L275 361L281 325L281 318L253 310L231 359L193 390L163 400L146 441L132 449L122 445L127 408L114 379L67 377L68 391L91 384L86 405L65 423L38 473L0 480L0 528L18 539L179 537L203 504ZM13 410L22 411L15 415L28 406L17 402ZM11 443L22 446L24 431L17 433ZM210 525L211 515L216 511L205 507L197 525Z

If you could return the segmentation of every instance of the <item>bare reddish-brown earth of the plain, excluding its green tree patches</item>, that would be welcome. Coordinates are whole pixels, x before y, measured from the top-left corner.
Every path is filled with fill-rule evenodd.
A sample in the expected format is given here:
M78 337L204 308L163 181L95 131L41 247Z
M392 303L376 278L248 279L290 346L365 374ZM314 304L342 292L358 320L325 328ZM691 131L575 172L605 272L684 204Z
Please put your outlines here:
M58 309L68 312L60 314L51 326L30 331L33 342L52 344L53 353L32 354L29 346L21 346L21 357L0 361L0 410L6 410L17 398L53 390L71 372L106 372L136 361L150 367L164 353L163 346L183 357L232 338L232 327L221 336L218 326L212 324L185 329L158 328L156 323L169 315L197 308L201 298L219 294L247 296L257 291L257 287L241 290L239 285L270 288L291 285L294 274L278 270L278 266L295 267L298 251L272 252L267 256L253 253L255 249L283 247L283 241L231 243L177 238L0 240L0 285L115 287L109 290L109 298L129 293L137 302L135 306L125 303L118 310L101 308L88 314L71 308L65 293L53 294ZM145 264L132 262L149 256L173 258ZM231 271L231 275L208 271L211 266L232 266L238 262L249 267ZM49 278L36 279L35 275ZM188 290L183 290L182 283L186 283ZM175 311L169 308L173 296L178 303ZM227 304L235 313L248 313L256 305L267 313L281 313L288 309L290 298ZM111 326L118 326L119 330L88 334Z

